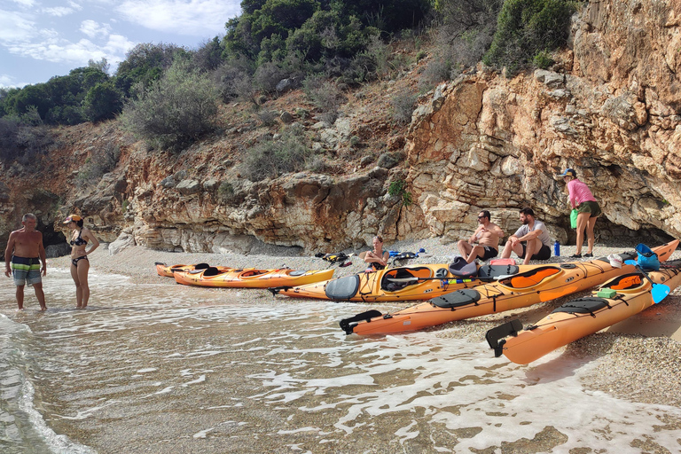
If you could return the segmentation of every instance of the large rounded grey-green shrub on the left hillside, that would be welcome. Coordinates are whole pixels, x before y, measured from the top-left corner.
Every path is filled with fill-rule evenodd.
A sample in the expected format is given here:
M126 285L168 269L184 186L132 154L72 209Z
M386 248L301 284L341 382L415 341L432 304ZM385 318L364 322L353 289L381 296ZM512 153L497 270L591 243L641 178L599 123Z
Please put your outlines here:
M162 79L123 109L125 129L158 148L180 149L215 129L219 91L188 59L177 59Z

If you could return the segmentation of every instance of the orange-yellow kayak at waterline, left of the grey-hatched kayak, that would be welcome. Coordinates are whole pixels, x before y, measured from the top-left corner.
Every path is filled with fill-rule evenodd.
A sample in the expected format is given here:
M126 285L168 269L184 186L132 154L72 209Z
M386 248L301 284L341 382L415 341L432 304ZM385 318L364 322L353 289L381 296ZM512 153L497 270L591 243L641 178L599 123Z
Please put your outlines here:
M219 270L209 267L206 270L173 272L173 277L178 284L207 287L301 286L327 280L332 276L333 270L255 270L254 268Z

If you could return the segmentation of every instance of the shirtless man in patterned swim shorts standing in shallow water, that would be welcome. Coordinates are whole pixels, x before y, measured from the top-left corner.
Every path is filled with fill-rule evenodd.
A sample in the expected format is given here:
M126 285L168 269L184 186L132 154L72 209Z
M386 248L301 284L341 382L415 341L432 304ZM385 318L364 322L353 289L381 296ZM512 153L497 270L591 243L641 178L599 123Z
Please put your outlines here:
M4 250L4 275L8 278L13 275L14 285L17 286L17 304L19 309L24 309L24 286L32 285L35 296L40 303L40 310L47 309L45 306L45 294L43 293L43 278L47 273L45 262L45 248L43 247L43 233L35 230L38 219L28 213L21 219L24 226L18 231L10 233L7 248ZM40 262L43 263L42 276Z

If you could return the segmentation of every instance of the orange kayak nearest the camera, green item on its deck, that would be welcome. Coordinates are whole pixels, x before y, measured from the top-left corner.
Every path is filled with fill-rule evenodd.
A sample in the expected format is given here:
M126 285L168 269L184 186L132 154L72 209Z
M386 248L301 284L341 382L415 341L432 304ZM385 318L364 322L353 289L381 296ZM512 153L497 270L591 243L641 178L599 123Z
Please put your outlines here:
M656 285L674 290L681 285L681 261L662 263L646 271ZM522 331L520 320L497 326L487 333L495 356L505 355L516 364L528 364L556 348L596 333L653 306L655 289L640 272L609 280L590 297L570 301ZM658 301L659 302L659 301Z

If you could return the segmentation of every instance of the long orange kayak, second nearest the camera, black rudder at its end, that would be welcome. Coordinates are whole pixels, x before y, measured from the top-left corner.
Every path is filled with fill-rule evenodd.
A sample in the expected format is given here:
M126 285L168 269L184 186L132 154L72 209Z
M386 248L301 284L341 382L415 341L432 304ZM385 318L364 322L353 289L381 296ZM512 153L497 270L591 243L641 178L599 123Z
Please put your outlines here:
M655 247L654 252L658 254L660 261L664 261L677 246L678 240L674 240ZM637 254L631 251L622 254L622 258L625 261L636 260ZM610 278L635 270L631 264L616 268L606 257L590 262L540 265L497 282L444 294L393 314L384 315L378 310L363 312L341 320L340 328L347 334L362 335L414 331L551 301L598 286Z

